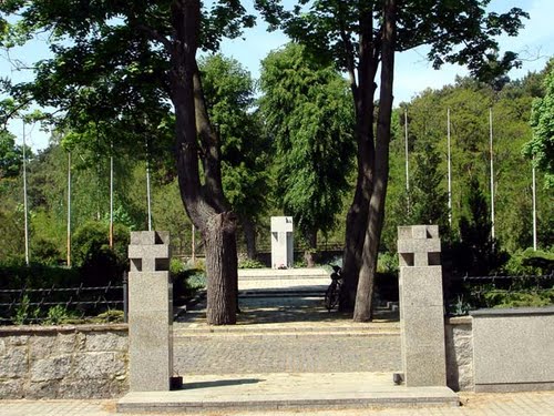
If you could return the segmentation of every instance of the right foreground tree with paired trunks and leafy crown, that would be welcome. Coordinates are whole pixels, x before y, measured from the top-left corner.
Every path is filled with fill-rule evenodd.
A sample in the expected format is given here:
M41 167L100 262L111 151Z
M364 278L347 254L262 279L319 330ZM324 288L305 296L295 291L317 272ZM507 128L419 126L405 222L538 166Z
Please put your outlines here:
M368 321L388 184L394 53L428 44L433 67L461 63L480 78L494 79L512 68L516 58L512 52L500 58L494 37L503 32L515 35L526 13L517 8L503 14L486 13L489 0L316 0L302 10L307 3L300 0L287 11L279 0L256 1L273 28L281 27L350 77L358 179L347 217L341 304L349 306L356 298L355 321Z

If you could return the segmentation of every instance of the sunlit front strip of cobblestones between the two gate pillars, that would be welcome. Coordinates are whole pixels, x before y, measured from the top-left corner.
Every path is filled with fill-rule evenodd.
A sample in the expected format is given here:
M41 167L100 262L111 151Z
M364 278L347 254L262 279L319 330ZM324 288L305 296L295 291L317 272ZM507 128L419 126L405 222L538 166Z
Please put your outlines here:
M176 338L178 374L394 372L399 335L256 334Z

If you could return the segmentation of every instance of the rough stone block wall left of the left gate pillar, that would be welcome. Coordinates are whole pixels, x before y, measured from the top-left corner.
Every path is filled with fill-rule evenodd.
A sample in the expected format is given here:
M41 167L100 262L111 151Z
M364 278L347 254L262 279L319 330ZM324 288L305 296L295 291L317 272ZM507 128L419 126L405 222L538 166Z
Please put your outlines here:
M127 325L0 327L0 398L121 396L127 344Z

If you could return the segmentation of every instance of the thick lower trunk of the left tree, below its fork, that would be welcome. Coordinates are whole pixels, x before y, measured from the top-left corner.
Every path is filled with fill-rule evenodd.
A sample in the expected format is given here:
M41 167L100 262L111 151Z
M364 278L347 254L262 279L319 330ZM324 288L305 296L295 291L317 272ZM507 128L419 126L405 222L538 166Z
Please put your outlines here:
M225 212L212 216L205 227L207 280L207 322L211 325L236 323L237 246L236 216Z

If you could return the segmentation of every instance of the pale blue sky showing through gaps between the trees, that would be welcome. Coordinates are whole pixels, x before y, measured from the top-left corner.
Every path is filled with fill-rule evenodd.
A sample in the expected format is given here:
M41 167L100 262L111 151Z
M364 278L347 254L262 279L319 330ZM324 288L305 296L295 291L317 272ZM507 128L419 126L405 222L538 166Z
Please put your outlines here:
M503 12L512 7L522 8L530 13L530 19L524 22L525 28L520 31L519 37L500 38L501 53L502 51L512 50L519 53L523 61L521 69L512 70L509 73L511 79L519 79L530 71L542 70L546 61L554 57L554 27L552 23L554 1L492 0L489 10ZM254 79L258 79L259 62L269 51L283 47L287 41L287 38L280 32L267 32L266 26L259 19L257 27L247 30L243 39L225 40L222 43L222 53L235 58L252 73ZM463 77L468 74L468 71L463 68L454 65L443 65L440 70L433 70L425 59L427 51L424 47L421 47L397 54L393 90L394 105L403 101L410 101L419 92L428 88L440 89L445 84L453 83L456 75ZM11 58L29 63L30 60L48 58L48 49L43 41L38 40L29 47L13 51ZM29 73L13 71L3 55L0 55L0 77L10 77L14 81L31 79ZM18 136L18 144L21 144L21 122L14 121L10 123L9 129ZM27 126L25 129L27 144L35 150L48 146L49 136L49 133L40 131L38 125Z

